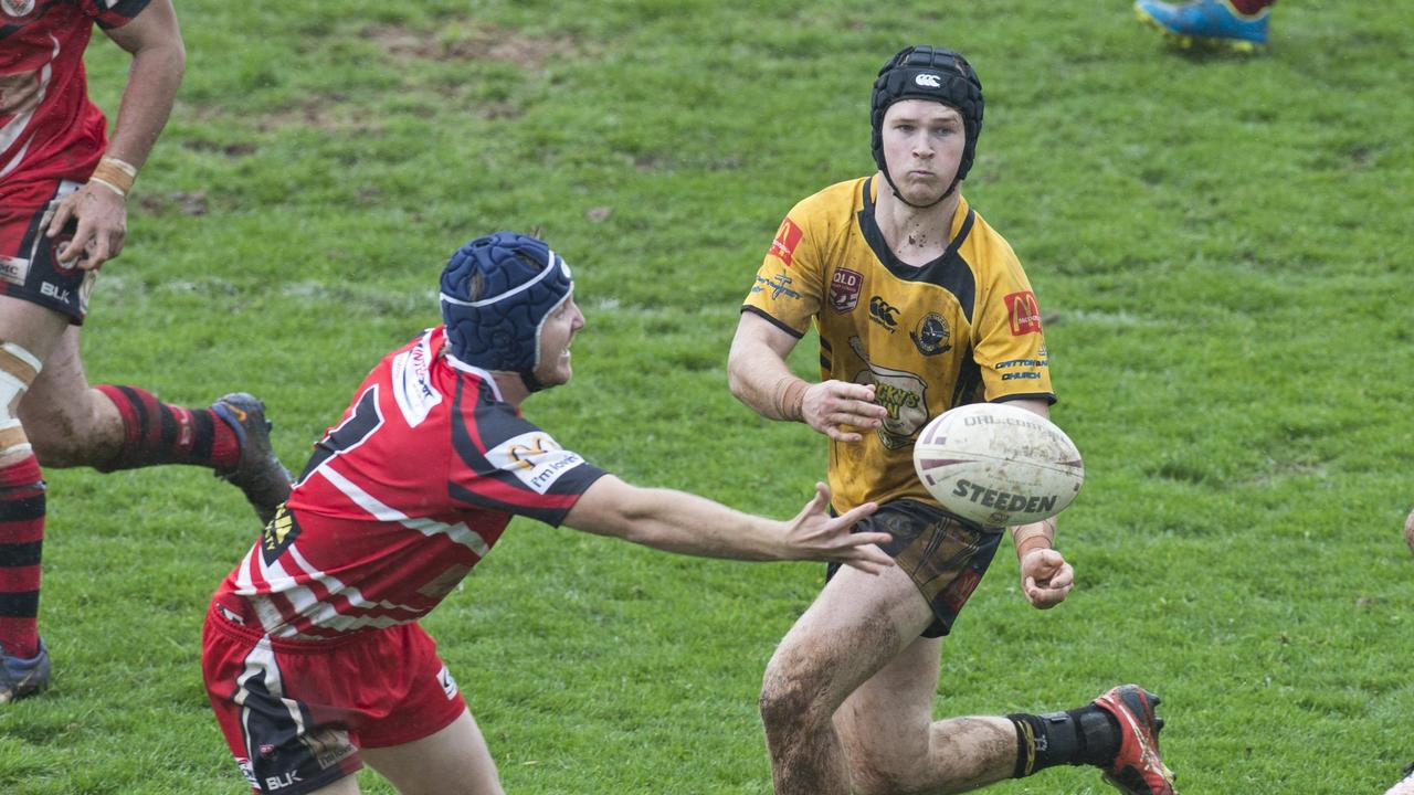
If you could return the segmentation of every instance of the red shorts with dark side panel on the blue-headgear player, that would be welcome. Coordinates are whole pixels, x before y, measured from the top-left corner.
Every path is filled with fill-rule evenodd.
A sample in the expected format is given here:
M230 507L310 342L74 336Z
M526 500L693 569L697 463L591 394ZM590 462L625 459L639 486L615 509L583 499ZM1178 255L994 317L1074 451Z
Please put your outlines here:
M226 744L259 794L328 787L363 767L359 748L421 740L467 712L437 644L417 624L328 642L280 641L212 603L201 668Z

